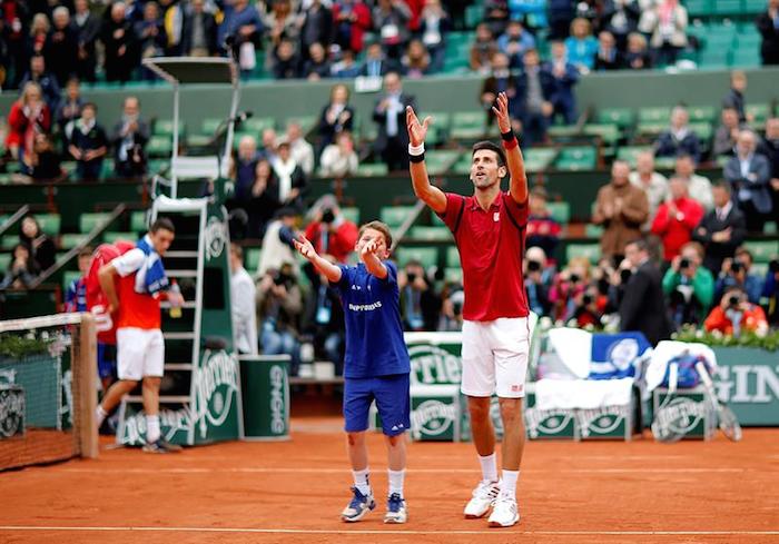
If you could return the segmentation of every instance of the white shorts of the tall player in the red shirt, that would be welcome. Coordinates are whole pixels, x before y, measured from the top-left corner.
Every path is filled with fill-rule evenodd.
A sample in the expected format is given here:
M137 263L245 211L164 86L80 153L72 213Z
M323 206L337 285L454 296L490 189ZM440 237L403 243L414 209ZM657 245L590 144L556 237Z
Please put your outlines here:
M524 397L529 355L526 317L464 322L461 390L472 397Z

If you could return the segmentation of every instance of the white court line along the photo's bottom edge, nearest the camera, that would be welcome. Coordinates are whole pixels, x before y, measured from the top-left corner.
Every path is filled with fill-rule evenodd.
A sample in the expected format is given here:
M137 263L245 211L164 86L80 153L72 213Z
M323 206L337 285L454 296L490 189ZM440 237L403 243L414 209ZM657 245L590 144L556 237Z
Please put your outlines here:
M253 527L144 527L144 526L37 526L0 525L0 531L69 531L69 532L166 532L166 533L255 533L310 535L526 535L526 536L779 536L779 531L337 531L307 528Z

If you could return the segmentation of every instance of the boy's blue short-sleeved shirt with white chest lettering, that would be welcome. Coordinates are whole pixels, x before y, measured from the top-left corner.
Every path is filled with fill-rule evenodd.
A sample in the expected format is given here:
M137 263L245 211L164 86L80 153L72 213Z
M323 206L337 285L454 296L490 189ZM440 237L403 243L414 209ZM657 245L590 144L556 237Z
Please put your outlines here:
M384 261L387 277L368 273L363 263L341 268L341 294L346 319L344 377L372 378L411 372L403 339L397 268Z

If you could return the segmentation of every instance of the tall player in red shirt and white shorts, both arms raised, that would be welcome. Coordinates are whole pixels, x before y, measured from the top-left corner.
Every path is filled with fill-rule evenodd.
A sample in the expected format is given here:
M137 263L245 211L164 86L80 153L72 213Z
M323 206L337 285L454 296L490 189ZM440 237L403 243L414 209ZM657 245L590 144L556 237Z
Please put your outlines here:
M463 268L463 373L461 390L467 396L473 443L482 466L482 481L465 506L466 518L490 511L491 527L510 527L520 521L516 484L525 432L522 398L530 345L527 298L522 278L527 178L522 152L511 130L509 98L497 97L492 108L503 147L490 141L473 146L473 196L444 192L430 182L425 168L423 122L406 108L408 155L414 192L454 235ZM501 180L510 176L509 191ZM497 476L495 432L490 399L496 393L503 421L503 471Z

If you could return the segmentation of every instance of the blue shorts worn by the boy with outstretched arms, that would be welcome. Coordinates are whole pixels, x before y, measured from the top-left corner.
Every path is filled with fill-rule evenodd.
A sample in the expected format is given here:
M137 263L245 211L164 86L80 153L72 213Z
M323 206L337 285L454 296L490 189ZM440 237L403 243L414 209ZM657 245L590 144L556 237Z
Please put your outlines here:
M347 433L368 428L368 413L374 399L385 435L400 435L411 428L408 374L395 374L344 380L344 429Z

